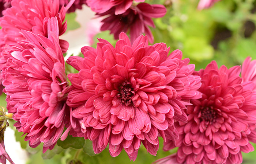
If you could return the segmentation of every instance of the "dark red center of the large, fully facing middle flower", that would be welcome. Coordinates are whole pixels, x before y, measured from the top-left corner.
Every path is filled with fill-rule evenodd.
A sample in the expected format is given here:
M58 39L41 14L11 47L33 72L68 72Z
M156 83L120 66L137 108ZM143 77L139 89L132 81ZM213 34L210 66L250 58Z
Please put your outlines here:
M117 97L121 99L121 102L126 106L130 105L132 102L132 95L135 95L135 91L132 90L130 82L125 80L125 82L120 85L120 93L117 94Z

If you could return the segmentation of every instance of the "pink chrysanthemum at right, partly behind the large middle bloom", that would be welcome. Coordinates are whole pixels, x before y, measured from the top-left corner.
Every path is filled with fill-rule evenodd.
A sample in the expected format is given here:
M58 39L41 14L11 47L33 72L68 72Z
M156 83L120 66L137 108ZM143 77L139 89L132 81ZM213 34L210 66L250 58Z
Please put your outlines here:
M242 82L240 66L218 69L215 61L205 70L194 73L202 78L202 98L192 100L185 113L188 123L175 123L179 133L176 142L167 140L165 151L179 147L178 163L242 163L241 152L253 151L249 141L256 142L256 99L251 81ZM251 136L251 134L253 134ZM173 161L162 159L158 164Z

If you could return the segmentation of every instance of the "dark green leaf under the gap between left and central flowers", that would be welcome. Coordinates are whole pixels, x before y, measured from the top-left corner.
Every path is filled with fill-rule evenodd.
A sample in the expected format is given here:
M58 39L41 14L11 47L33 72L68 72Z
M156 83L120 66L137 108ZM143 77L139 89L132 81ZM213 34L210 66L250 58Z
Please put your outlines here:
M57 145L59 145L63 149L67 149L69 147L75 148L75 149L81 149L83 148L84 144L85 144L85 140L84 138L81 138L81 137L68 136L64 141L61 141L60 139L57 141Z

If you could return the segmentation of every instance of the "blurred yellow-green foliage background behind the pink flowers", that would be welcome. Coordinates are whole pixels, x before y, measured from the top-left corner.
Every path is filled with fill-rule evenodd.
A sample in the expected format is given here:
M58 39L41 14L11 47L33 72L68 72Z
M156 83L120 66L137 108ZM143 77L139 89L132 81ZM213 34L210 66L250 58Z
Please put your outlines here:
M247 56L256 59L256 1L255 0L221 0L209 9L197 10L199 0L146 0L150 4L165 4L167 14L163 18L154 19L156 28L151 28L155 43L164 42L171 50L180 49L184 58L190 58L196 70L205 68L211 60L218 65L232 67L241 65ZM68 29L79 27L75 22L75 14L68 17ZM109 31L97 34L94 38L103 38L115 44L116 40ZM93 45L96 47L96 44ZM1 104L5 104L1 96ZM6 106L6 105L5 105ZM12 126L13 122L10 122ZM91 141L83 138L68 137L58 141L52 151L42 154L42 145L32 149L15 131L16 140L29 153L27 164L149 164L177 151L162 151L162 140L157 156L147 153L141 146L135 162L123 151L118 157L111 157L106 148L99 155L94 155ZM256 148L256 145L253 144ZM256 152L243 153L244 164L256 163Z

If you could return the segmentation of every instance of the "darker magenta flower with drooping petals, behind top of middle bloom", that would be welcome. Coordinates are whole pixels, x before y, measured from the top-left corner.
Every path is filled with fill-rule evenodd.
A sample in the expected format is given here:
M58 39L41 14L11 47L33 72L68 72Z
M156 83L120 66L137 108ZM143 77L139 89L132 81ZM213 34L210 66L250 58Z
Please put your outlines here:
M103 19L101 31L110 30L110 34L114 34L114 38L118 39L121 32L130 31L131 42L145 33L148 36L150 43L154 42L154 36L150 31L150 27L155 27L151 18L163 17L166 14L166 8L163 5L150 5L140 3L137 6L131 6L123 14L115 15L114 8L109 11L99 14L99 16L108 15Z

